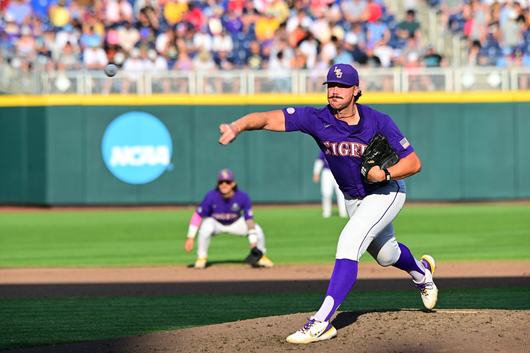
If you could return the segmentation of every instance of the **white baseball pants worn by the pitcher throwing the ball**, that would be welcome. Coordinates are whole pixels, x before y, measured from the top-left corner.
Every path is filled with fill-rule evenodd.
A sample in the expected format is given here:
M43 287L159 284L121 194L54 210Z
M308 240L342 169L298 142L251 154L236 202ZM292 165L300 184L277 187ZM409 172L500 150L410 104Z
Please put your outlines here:
M364 200L345 195L350 220L340 234L335 257L359 261L368 251L379 265L394 265L401 250L394 237L392 221L405 203L406 192L403 180L391 180Z

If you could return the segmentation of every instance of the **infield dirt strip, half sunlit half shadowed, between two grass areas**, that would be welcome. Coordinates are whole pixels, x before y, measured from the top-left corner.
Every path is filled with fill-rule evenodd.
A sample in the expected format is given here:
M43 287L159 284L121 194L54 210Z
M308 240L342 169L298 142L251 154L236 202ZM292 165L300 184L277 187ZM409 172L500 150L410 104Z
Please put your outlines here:
M530 286L530 262L445 263L439 288ZM325 292L333 265L0 269L0 298ZM411 289L404 271L359 264L355 291Z

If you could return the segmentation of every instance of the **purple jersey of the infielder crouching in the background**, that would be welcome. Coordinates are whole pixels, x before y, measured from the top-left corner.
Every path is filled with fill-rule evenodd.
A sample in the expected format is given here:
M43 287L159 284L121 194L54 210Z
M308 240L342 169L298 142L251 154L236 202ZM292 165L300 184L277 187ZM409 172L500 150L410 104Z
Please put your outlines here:
M217 189L210 191L204 197L197 213L202 217L213 217L222 224L232 224L244 213L245 220L252 219L252 204L247 193L237 190L230 199L225 199Z

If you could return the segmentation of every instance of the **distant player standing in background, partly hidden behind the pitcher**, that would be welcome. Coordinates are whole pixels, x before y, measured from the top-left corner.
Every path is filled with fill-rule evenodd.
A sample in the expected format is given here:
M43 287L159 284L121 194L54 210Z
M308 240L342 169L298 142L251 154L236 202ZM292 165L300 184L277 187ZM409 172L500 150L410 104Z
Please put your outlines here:
M339 216L341 218L348 218L346 213L346 204L344 203L344 195L340 191L339 184L335 182L333 173L331 173L330 165L321 151L319 158L315 159L313 165L313 182L318 183L320 181L320 192L322 194L322 217L331 217L331 199L333 197L333 191L337 195L337 205L339 206Z

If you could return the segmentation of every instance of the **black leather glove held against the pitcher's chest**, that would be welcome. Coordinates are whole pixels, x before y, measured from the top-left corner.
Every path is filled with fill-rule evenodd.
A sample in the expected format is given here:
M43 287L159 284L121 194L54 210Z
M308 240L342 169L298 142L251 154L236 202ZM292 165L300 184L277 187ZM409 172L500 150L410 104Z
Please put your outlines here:
M366 150L361 155L361 174L366 184L374 184L368 181L368 172L372 167L379 166L385 169L395 165L399 161L398 154L392 149L388 140L381 134L376 133Z

